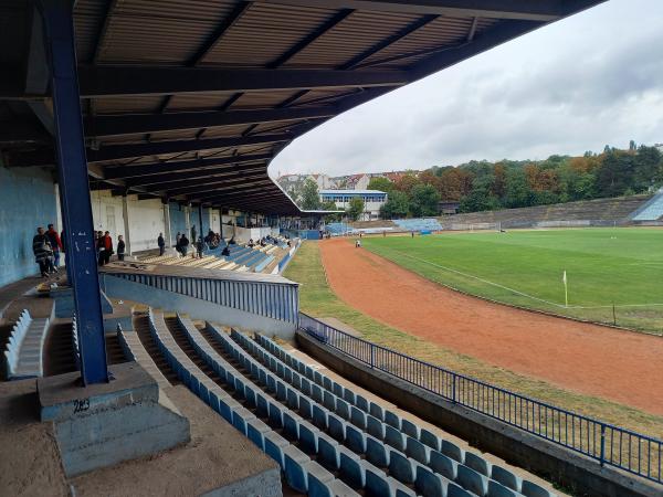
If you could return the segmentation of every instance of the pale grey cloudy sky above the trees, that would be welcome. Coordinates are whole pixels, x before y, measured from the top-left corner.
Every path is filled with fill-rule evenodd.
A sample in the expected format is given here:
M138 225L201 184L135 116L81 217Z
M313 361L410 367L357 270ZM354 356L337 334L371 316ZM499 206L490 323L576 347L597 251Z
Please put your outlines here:
M610 0L349 110L270 173L425 169L663 142L663 1Z

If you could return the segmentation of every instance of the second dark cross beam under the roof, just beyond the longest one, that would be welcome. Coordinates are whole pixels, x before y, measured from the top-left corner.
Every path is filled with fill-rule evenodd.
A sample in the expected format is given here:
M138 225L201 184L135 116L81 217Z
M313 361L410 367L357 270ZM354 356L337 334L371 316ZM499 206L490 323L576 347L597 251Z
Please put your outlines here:
M95 137L122 136L139 133L188 130L202 127L213 128L245 124L281 123L332 117L334 115L336 115L336 109L333 106L318 106L259 110L91 116L85 119L85 135Z

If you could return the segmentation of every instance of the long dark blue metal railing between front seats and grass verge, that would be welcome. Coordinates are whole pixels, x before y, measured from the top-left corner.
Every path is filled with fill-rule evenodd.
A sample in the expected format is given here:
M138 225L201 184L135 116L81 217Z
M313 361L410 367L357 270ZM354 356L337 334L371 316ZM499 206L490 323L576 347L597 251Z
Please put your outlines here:
M663 483L663 441L524 396L354 337L299 313L299 328L370 368L533 435Z

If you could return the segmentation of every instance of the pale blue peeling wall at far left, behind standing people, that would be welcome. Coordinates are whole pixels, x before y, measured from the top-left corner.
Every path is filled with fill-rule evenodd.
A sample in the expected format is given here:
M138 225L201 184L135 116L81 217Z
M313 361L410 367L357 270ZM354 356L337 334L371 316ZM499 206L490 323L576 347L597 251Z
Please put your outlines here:
M41 168L0 166L0 285L39 272L32 255L36 228L57 223L55 186Z

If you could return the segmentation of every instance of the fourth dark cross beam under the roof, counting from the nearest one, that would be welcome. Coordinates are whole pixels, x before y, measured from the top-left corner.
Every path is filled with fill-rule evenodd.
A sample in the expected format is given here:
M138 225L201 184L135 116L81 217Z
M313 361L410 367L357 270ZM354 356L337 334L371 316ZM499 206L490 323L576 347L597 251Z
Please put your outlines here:
M234 167L241 163L264 162L272 159L271 154L218 157L211 159L181 160L177 162L152 162L135 166L107 166L105 179L123 179L143 176L161 176L164 173L180 175L185 172L204 171L220 166Z

